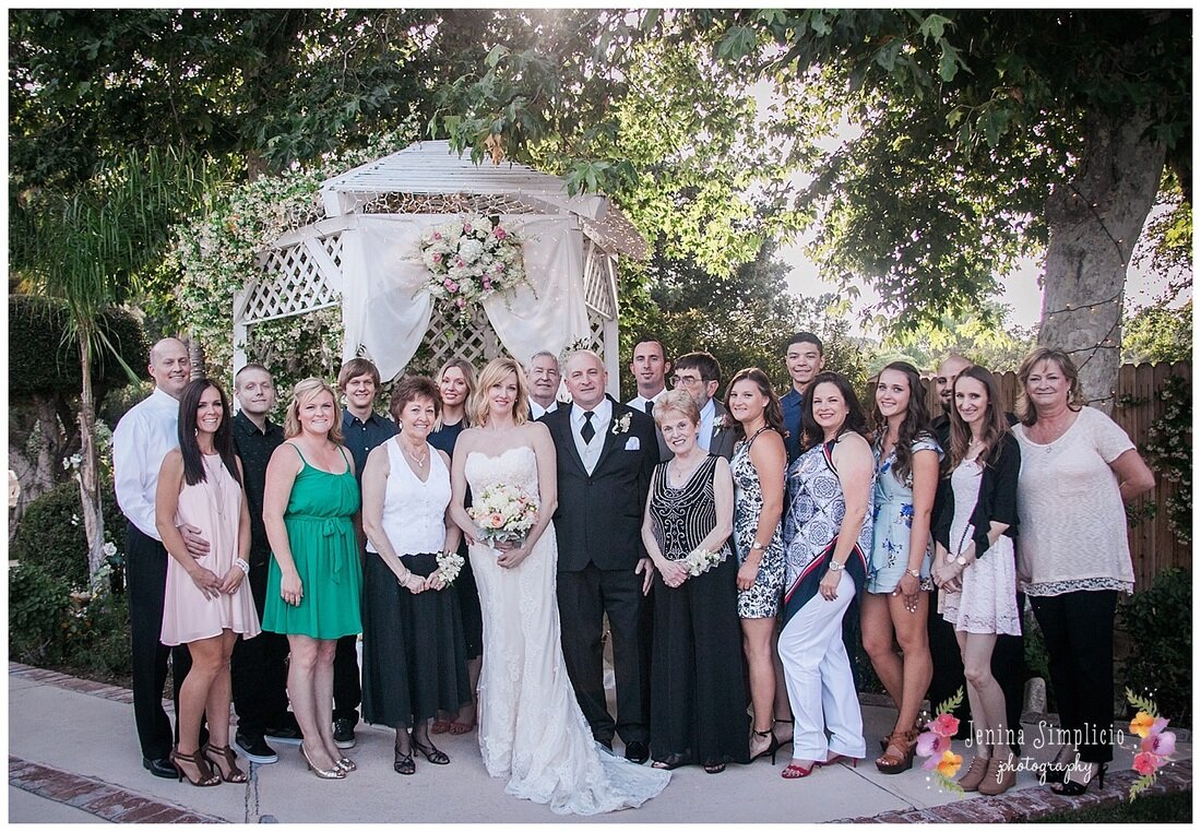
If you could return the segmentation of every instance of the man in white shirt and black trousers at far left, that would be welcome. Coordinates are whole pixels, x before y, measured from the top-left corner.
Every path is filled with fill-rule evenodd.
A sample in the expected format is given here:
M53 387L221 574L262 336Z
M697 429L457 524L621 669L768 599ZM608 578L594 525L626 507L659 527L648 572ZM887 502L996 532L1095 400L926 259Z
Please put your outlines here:
M192 371L187 348L175 339L159 341L150 349L149 371L155 382L154 393L121 417L113 431L113 484L116 504L129 520L125 570L130 598L133 718L142 746L142 766L155 777L174 778L175 768L168 759L174 744L173 732L162 707L167 656L168 652L172 656L177 701L192 660L186 646L172 651L159 641L169 556L155 525L155 490L163 456L179 447L179 396ZM185 533L185 538L189 537L195 538ZM195 545L195 540L189 540L190 549ZM207 551L207 544L199 545L201 553Z

